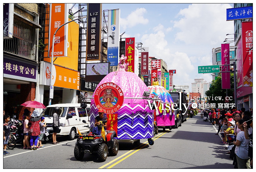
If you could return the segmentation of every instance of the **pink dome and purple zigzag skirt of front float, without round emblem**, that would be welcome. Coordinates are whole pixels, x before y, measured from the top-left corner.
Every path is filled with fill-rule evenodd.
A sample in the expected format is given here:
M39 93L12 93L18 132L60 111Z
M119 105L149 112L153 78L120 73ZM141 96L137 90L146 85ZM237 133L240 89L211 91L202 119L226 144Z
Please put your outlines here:
M117 139L152 138L154 126L153 110L150 110L145 99L132 99L132 97L142 98L144 91L149 91L145 83L133 72L110 72L100 81L95 90L107 82L113 82L118 85L124 95L123 105L115 112L118 114ZM93 97L94 95L95 92ZM90 113L91 126L94 126L95 117L98 115L94 99L91 100Z

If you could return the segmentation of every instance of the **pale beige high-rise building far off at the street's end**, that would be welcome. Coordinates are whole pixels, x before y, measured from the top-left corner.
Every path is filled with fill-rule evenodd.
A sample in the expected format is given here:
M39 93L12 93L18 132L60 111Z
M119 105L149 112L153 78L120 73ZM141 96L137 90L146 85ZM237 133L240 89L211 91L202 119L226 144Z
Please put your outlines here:
M201 93L205 97L205 92L209 90L209 82L206 82L204 79L194 79L192 85L192 93Z

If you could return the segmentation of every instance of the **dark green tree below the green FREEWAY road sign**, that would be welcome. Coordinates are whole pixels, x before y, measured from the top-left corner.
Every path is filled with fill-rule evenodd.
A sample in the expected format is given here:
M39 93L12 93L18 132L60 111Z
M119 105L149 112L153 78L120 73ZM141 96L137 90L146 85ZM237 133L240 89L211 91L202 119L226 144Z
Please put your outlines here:
M227 95L228 91L228 95ZM221 88L221 74L215 81L212 81L211 87L208 91L205 92L205 95L208 96L209 103L215 103L218 107L218 103L225 103L225 97L232 97L232 100L229 100L230 103L234 103L234 73L230 72L230 89ZM215 100L215 97L221 97L221 100Z

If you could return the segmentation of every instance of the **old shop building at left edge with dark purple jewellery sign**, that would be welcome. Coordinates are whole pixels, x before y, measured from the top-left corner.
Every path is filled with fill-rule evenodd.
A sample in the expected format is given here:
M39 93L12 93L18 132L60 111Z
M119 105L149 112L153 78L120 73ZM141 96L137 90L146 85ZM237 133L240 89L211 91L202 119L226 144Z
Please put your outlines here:
M3 110L22 119L38 83L38 4L4 3ZM30 111L33 108L27 108Z

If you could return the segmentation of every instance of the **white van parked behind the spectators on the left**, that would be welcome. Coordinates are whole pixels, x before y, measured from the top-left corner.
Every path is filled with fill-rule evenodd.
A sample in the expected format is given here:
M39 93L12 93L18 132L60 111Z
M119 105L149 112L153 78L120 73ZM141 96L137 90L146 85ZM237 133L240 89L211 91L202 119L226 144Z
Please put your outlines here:
M77 128L81 133L88 132L89 128L83 127L86 124L82 122L85 120L90 126L90 104L91 101L86 100L87 107L83 109L80 107L80 103L63 103L47 106L41 113L40 116L45 118L47 123L46 131L49 134L53 133L52 122L53 122L53 108L60 107L59 119L60 119L60 133L57 135L67 135L70 140L74 140Z

